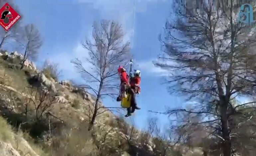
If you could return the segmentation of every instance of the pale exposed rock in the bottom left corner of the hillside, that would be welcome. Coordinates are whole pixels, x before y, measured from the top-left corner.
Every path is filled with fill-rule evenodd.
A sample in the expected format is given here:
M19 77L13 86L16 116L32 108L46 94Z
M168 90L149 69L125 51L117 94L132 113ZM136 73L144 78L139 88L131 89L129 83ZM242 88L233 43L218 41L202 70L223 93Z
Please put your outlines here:
M20 156L10 143L0 141L0 156Z

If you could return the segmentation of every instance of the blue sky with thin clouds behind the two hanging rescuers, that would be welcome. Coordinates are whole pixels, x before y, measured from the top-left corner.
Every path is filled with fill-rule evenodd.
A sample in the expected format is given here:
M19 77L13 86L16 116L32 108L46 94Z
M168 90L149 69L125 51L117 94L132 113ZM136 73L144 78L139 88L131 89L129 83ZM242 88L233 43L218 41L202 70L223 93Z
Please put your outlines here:
M135 21L134 0L16 0L16 4L24 23L35 24L44 39L37 65L45 59L59 63L62 79L79 80L70 60L86 56L80 42L90 36L94 21L108 19L122 24L125 39L132 42L135 66L142 72L142 92L137 98L141 110L131 117L137 127L144 128L148 117L155 116L148 110L164 111L165 106L183 104L182 98L171 96L161 85L166 72L152 64L161 52L158 35L170 15L170 1L136 0ZM107 107L120 106L110 99L103 102ZM167 122L166 116L157 117L162 125Z

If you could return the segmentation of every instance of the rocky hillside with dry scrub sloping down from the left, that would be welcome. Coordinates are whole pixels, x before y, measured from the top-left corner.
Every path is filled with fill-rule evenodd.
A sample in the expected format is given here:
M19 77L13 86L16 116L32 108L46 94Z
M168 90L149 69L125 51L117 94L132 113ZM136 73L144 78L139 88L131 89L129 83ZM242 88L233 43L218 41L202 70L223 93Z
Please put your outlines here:
M21 70L17 52L0 55L0 155L202 155L139 132L104 108L88 131L92 95L69 81L57 82L33 62Z

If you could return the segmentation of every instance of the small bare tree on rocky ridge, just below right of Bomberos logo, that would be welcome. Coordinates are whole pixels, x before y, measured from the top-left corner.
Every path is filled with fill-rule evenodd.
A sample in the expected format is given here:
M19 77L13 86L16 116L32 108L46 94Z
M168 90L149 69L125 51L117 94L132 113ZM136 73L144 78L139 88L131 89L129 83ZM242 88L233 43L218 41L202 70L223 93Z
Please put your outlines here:
M21 69L23 69L27 59L32 61L37 59L38 50L42 46L43 41L39 30L33 24L28 24L24 27L24 33L21 38L17 42L24 49L24 57L21 61Z

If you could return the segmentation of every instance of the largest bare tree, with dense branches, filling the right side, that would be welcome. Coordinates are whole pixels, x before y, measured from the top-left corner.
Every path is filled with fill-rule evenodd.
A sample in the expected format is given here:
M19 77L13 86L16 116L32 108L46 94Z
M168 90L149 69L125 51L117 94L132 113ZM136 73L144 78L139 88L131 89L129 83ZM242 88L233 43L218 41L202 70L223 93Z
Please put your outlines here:
M195 101L190 110L171 109L167 114L200 115L209 134L220 138L223 156L231 156L235 141L233 116L254 103L234 106L231 100L255 95L255 30L239 23L236 13L233 1L223 11L212 0L200 10L175 13L177 20L168 21L165 38L160 36L162 62L155 63L170 70L170 93Z

